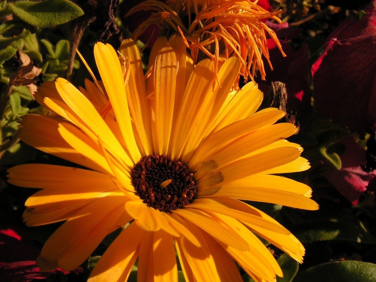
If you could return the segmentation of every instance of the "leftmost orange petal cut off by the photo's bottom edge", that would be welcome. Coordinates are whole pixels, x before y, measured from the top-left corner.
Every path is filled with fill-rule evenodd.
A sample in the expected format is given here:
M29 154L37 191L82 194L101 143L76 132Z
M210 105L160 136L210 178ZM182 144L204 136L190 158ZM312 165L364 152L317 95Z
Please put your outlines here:
M131 223L124 229L99 259L88 282L127 281L145 231Z

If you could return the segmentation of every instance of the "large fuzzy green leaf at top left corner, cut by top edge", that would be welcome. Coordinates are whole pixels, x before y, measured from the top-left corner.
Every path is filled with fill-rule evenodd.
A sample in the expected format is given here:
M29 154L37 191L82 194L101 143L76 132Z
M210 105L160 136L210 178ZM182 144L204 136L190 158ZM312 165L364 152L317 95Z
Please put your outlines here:
M82 9L68 0L18 1L9 3L7 9L36 27L56 26L83 15Z

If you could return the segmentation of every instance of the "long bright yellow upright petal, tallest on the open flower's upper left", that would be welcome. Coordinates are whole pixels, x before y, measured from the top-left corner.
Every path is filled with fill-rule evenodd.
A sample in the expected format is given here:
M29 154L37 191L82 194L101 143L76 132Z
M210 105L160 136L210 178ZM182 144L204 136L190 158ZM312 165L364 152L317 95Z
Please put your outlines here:
M107 94L111 100L111 105L114 109L116 120L120 126L121 132L123 133L127 149L130 153L132 161L136 163L141 158L141 155L133 134L127 95L125 92L123 71L121 70L120 61L111 45L105 45L100 42L94 46L94 57L100 76L102 77L103 84L105 85ZM78 101L76 101L76 103L77 102ZM105 137L104 135L105 132L99 136L103 142L107 144L108 142L106 140L108 137Z

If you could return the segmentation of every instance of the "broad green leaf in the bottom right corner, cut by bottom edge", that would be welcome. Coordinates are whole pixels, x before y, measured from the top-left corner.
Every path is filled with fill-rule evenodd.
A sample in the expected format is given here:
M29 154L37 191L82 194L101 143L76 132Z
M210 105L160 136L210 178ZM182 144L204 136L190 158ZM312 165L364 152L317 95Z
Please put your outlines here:
M376 264L361 261L328 262L299 272L293 282L374 282Z

